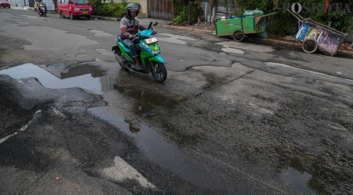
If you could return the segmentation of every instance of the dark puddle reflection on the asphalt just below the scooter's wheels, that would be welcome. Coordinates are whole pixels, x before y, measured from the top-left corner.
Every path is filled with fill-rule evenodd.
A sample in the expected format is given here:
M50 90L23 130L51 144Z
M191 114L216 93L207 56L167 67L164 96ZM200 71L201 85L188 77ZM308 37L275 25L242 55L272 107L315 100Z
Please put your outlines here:
M139 89L129 89L117 85L115 85L114 88L117 89L120 94L134 98L139 102L135 105L137 108L133 110L137 115L151 116L155 114L156 110L163 107L173 106L177 103L176 100L158 93L150 93Z

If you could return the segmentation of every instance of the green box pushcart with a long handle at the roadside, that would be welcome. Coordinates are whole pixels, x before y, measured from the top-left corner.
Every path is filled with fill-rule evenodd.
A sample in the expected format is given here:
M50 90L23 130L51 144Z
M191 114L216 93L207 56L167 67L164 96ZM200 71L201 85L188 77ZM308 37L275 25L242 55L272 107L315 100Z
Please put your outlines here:
M280 12L282 11L262 16L260 15L260 13L253 13L250 15L217 19L216 36L233 36L233 39L235 41L242 41L244 39L245 34L261 33L261 24L266 19L266 17L275 15Z

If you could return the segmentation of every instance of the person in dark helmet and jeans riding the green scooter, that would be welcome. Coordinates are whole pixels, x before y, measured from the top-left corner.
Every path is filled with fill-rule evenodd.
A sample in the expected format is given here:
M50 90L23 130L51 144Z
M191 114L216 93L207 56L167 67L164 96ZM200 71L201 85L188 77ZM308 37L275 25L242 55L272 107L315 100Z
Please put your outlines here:
M141 70L141 63L138 60L138 54L137 54L137 47L138 45L138 40L135 42L132 41L132 39L136 38L136 33L138 32L138 29L140 31L146 30L141 21L136 18L138 15L138 10L139 7L134 4L134 3L129 3L126 5L126 15L121 19L120 21L120 30L121 30L121 42L130 50L130 54L135 60L136 63L136 69ZM129 28L134 28L135 31L129 33L126 30ZM156 30L153 30L154 33L157 33Z

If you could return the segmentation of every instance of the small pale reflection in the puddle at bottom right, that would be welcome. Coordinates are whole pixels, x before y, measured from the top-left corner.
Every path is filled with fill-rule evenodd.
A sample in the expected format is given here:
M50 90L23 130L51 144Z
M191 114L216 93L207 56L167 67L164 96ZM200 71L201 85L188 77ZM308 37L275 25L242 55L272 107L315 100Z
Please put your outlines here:
M316 195L316 193L308 188L309 180L312 178L307 172L300 173L293 167L288 167L284 173L280 174L281 180L288 185L294 192Z

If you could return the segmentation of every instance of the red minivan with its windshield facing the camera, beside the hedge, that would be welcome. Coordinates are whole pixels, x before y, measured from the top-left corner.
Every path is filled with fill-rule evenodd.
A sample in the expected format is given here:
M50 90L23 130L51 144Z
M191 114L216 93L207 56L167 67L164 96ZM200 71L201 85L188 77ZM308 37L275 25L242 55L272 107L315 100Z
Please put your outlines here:
M58 0L58 14L61 18L85 17L90 20L92 16L92 5L89 0Z

